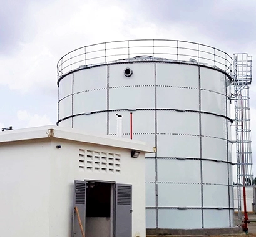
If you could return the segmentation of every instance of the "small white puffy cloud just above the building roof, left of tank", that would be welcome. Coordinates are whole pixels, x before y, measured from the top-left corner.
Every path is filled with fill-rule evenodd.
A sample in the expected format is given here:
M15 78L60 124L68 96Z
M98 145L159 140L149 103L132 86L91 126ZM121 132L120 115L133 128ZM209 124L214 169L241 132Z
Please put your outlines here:
M52 124L48 115L38 115L38 114L29 114L26 110L19 110L17 112L18 120L24 122L26 125L24 127L39 127L43 125Z

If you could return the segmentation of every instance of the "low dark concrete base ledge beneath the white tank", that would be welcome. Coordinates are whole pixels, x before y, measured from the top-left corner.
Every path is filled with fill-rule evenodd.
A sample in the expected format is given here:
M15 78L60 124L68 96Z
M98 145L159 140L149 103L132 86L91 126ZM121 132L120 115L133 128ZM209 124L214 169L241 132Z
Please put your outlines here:
M209 236L241 234L242 228L205 228L205 229L146 229L146 236Z

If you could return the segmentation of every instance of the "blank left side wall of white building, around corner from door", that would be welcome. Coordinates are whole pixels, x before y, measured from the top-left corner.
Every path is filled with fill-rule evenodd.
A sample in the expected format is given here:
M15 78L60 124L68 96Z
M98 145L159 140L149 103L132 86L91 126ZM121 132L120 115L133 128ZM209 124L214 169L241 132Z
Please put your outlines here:
M50 236L51 150L49 142L1 145L1 236Z

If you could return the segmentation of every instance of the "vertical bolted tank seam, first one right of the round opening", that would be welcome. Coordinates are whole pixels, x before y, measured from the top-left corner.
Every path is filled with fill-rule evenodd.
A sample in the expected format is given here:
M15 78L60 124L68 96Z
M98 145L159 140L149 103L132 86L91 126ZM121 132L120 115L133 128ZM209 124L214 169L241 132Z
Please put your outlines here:
M155 72L155 147L156 147L156 153L155 153L155 196L156 196L156 228L158 228L158 186L157 186L157 181L158 181L158 173L157 173L157 104L156 104L156 63L154 63L154 72Z

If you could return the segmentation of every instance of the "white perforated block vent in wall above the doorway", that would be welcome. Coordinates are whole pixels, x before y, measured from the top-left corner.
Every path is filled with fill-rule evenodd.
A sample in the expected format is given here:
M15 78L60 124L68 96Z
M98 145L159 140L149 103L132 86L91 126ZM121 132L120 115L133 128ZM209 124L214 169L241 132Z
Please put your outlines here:
M79 170L99 173L121 173L121 155L79 149Z

